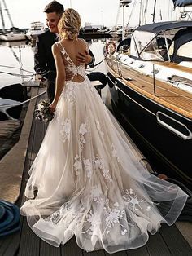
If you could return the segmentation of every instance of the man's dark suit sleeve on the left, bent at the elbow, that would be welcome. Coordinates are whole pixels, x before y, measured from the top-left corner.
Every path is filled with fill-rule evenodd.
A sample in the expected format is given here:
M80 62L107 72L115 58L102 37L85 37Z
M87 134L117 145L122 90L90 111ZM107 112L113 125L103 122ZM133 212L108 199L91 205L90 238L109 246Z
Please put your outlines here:
M50 70L46 65L46 52L43 40L37 38L35 52L34 52L34 69L35 72L46 79L55 81L56 71Z

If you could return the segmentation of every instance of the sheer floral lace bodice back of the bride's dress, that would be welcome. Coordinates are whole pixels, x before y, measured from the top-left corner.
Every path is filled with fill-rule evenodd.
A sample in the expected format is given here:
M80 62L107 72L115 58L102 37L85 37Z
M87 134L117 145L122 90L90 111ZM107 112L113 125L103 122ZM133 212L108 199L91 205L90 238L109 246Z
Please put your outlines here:
M78 65L74 64L72 59L69 57L67 51L65 51L65 48L61 44L61 42L56 42L57 46L61 49L61 53L63 55L63 60L65 64L65 72L66 73L73 73L74 76L81 75L81 77L85 77L85 65Z

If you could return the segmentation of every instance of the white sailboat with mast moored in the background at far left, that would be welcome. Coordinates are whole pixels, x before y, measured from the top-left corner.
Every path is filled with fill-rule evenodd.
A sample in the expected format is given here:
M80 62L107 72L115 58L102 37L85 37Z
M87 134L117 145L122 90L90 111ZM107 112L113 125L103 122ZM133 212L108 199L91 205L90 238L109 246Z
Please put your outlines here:
M11 22L11 29L6 29L5 28L5 21L4 21L4 17L3 17L3 13L2 13L2 2L3 5L5 7L5 10L7 11L7 16ZM20 32L19 29L15 29L15 26L13 24L13 21L11 20L11 15L7 9L7 4L5 2L5 0L0 0L0 15L1 15L1 19L2 19L2 32L0 33L0 41L22 41L22 40L26 40L26 35L23 32Z

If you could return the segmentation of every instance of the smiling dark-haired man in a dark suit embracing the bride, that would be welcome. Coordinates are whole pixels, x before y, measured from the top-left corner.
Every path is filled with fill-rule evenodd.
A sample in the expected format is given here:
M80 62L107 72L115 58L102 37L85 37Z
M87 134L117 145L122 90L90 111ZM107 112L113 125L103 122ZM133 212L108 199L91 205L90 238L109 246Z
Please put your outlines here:
M50 99L50 103L54 99L55 95L55 78L56 78L56 68L55 68L55 60L52 55L51 46L59 39L59 31L58 31L58 23L60 18L63 15L64 8L63 5L57 1L50 2L44 12L46 13L46 24L48 26L48 31L45 33L41 33L37 37L37 44L35 47L35 65L34 69L36 73L40 74L41 77L46 78L46 86L47 86L47 95ZM89 58L91 55L91 59ZM79 64L88 64L90 68L94 67L94 55L92 51L85 51L84 54L79 53L76 55L76 60ZM98 80L103 86L107 83L107 77L100 72L90 73L88 74L90 81ZM72 78L72 74L68 74L66 80L70 80Z

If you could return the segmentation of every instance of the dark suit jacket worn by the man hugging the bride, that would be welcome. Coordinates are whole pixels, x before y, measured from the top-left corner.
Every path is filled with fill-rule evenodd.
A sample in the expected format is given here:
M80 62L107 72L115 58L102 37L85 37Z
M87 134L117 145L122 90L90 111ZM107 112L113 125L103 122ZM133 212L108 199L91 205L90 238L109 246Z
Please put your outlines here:
M37 44L35 47L35 64L34 69L36 73L40 74L42 77L45 77L51 82L55 82L56 78L56 68L55 60L52 55L51 46L56 42L56 34L46 31L41 33L37 37ZM89 55L92 56L93 61L89 66L92 68L94 66L94 54L89 50Z

